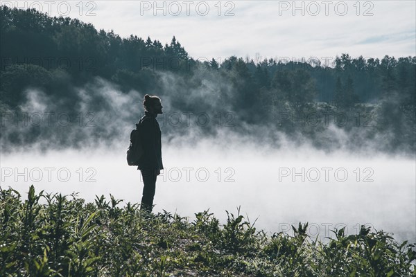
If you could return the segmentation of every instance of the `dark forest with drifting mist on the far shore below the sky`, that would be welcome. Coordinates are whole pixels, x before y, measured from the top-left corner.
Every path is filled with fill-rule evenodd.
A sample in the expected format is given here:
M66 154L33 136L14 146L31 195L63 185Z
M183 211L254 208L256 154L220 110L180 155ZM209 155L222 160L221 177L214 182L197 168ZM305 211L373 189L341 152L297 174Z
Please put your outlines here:
M385 55L380 60L343 53L329 64L313 59L254 62L236 56L215 60L190 57L176 37L165 45L150 37L122 38L113 30L96 30L78 19L49 17L34 9L1 6L0 15L1 145L6 151L45 141L51 134L57 140L45 147L116 139L119 129L103 128L108 117L100 112L113 110L112 118L123 123L134 122L137 114L114 110L100 92L108 84L121 96L134 92L125 104L129 111L140 109L145 93L156 94L162 102L168 100L167 118L178 112L220 115L221 127L267 138L268 143L277 143L276 134L283 134L324 150L416 150L416 57ZM16 121L27 112L22 107L28 104L28 89L41 91L55 111L69 116L77 116L88 101L83 112L94 114L94 132L66 126L67 132L77 133L76 140L68 140L57 134L62 126L46 129L26 122L22 131ZM170 124L164 132L183 135L190 132L187 127ZM193 127L203 136L218 133L218 124ZM347 139L340 141L338 132Z

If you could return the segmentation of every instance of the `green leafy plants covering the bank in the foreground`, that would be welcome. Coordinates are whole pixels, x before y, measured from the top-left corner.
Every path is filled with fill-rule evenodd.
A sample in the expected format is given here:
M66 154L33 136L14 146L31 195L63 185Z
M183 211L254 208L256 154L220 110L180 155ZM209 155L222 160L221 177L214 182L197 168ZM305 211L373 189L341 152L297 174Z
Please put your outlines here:
M85 203L35 193L22 202L0 193L0 276L414 276L415 244L361 227L312 241L306 224L294 235L257 231L239 213L226 224L204 211L196 220L164 211L141 214L110 195ZM44 201L45 200L45 201ZM41 204L44 202L45 204Z

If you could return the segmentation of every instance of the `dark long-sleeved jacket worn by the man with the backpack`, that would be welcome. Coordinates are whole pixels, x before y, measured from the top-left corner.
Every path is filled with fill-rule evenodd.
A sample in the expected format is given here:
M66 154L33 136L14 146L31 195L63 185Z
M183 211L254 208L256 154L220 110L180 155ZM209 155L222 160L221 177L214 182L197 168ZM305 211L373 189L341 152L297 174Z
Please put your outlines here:
M162 142L159 123L156 116L145 112L145 116L138 123L141 128L141 141L144 154L139 160L137 169L163 169Z

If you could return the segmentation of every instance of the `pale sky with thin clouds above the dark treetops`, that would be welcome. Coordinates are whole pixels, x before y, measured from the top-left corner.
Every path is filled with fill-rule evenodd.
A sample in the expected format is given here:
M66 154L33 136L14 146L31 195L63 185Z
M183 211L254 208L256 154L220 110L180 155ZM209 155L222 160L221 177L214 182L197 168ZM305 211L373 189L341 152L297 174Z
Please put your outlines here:
M173 36L191 57L330 63L416 55L416 1L1 1L76 17L121 37Z

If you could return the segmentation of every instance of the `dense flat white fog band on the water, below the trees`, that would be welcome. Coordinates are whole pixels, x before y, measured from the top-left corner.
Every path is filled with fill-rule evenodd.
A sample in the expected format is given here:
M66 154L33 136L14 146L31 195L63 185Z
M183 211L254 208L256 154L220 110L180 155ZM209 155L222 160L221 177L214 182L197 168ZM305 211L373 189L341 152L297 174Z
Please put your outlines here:
M235 143L218 143L227 139ZM194 213L209 208L224 223L225 211L236 214L241 206L241 214L270 233L309 222L309 233L319 230L323 239L334 227L347 226L352 234L357 224L371 224L398 240L415 240L412 159L325 154L308 145L272 149L227 132L216 141L181 148L162 143L165 170L157 179L155 212L193 220ZM123 204L140 202L143 184L139 171L125 161L125 146L2 154L1 187L12 186L23 198L33 184L37 192L79 192L87 202L95 195L109 199L110 193Z

